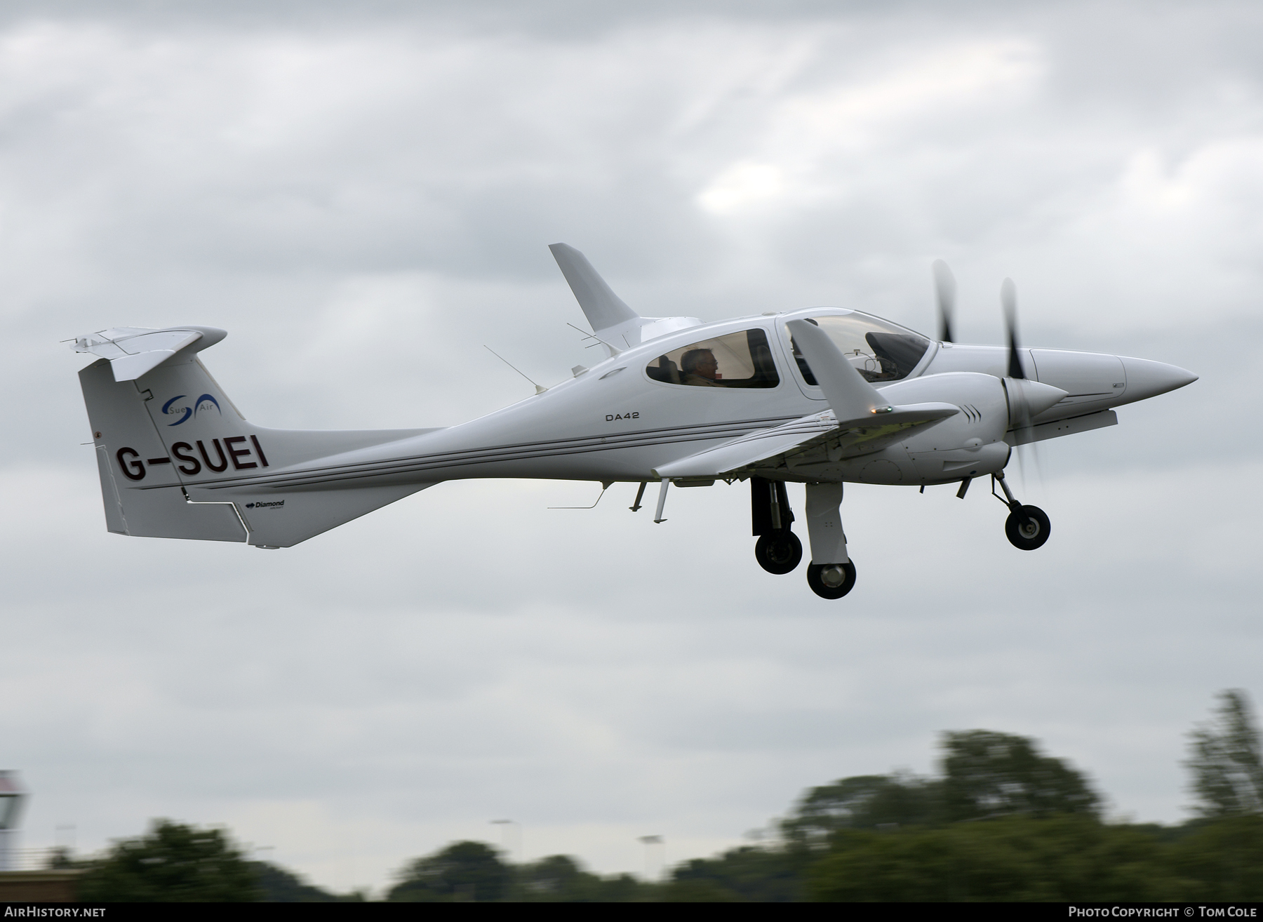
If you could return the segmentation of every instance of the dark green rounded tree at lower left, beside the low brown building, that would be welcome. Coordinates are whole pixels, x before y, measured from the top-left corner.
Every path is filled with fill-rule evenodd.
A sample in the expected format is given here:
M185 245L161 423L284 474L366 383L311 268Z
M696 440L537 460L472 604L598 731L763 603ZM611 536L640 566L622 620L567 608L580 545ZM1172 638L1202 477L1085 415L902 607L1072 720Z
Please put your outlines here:
M157 820L149 835L115 842L80 879L93 903L244 903L261 897L255 869L220 830Z

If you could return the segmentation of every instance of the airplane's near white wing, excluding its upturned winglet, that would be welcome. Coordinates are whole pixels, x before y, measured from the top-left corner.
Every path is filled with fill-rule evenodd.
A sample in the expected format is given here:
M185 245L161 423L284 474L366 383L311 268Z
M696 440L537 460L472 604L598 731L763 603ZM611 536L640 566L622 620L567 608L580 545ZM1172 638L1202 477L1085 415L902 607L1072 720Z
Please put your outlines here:
M822 448L830 461L880 451L907 437L909 429L933 426L960 413L950 403L914 403L890 407L837 422L832 410L812 413L770 429L753 432L654 469L663 480L673 477L739 477L781 466L786 458Z

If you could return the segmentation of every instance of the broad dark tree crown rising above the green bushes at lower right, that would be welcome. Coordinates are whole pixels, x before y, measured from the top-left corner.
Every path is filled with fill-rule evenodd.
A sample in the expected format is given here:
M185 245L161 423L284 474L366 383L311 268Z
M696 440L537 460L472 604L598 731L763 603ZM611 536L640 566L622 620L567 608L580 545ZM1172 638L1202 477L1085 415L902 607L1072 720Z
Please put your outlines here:
M991 730L943 734L942 818L1027 813L1096 816L1100 798L1082 774L1041 755L1034 740Z

